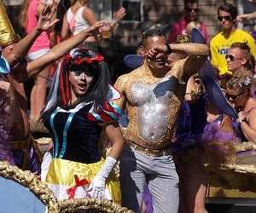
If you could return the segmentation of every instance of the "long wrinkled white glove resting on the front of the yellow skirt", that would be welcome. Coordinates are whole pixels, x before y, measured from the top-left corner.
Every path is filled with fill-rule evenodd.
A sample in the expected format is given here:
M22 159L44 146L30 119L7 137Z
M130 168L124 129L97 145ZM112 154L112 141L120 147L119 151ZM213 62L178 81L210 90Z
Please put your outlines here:
M106 180L116 164L116 159L110 156L106 158L105 163L102 165L102 169L92 179L92 181L90 181L90 186L87 190L91 197L98 199L105 198Z

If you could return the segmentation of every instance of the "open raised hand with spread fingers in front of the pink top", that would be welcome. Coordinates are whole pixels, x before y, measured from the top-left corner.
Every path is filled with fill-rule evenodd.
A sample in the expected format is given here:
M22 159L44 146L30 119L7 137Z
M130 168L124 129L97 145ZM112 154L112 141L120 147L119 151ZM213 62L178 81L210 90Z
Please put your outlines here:
M50 27L54 26L58 19L52 20L53 15L55 14L56 7L53 7L51 4L48 4L43 9L42 13L38 19L37 30L39 32L48 31Z

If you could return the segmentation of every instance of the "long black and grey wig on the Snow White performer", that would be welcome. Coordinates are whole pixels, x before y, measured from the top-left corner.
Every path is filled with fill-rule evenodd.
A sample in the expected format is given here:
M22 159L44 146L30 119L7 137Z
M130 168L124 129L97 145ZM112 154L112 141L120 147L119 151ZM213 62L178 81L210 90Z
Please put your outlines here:
M93 57L96 57L96 53L93 52L92 50L88 49L76 49L73 52L72 58L70 59L65 59L62 61L63 63L63 69L60 72L72 72L72 71L88 71L90 72L93 77L93 84L91 87L88 89L86 94L82 97L79 97L78 101L75 101L73 104L64 105L63 102L63 97L61 95L61 86L60 82L58 79L55 79L55 83L59 83L58 89L57 89L57 101L55 101L55 104L51 106L48 110L44 111L41 115L41 118L45 120L46 118L49 118L49 115L51 112L55 110L56 107L62 107L64 109L72 109L73 107L77 106L79 103L85 101L85 102L94 102L94 106L96 108L100 107L103 103L103 101L106 100L107 95L108 95L108 90L109 90L109 82L110 82L110 77L109 77L109 72L108 72L108 66L104 61L99 61L99 60L93 60L92 62L88 63L86 61L81 62L81 63L76 63L75 60L83 60L83 59L90 59ZM60 74L61 75L61 74ZM68 74L66 75L68 78ZM63 80L65 81L65 79ZM69 89L70 89L69 85ZM51 95L53 94L54 91L54 84L52 85L49 95L47 97L46 103L49 101Z

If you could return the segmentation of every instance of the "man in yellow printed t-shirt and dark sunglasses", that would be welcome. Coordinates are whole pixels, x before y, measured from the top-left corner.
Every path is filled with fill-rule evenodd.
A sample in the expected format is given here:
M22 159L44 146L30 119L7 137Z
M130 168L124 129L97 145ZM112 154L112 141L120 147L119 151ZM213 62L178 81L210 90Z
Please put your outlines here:
M218 8L218 20L222 27L222 31L215 37L212 37L210 42L211 63L219 70L219 75L232 74L228 71L226 55L229 55L230 46L232 43L247 43L251 49L251 54L256 57L256 45L253 37L236 28L237 9L231 3L225 3ZM236 59L241 60L241 59Z

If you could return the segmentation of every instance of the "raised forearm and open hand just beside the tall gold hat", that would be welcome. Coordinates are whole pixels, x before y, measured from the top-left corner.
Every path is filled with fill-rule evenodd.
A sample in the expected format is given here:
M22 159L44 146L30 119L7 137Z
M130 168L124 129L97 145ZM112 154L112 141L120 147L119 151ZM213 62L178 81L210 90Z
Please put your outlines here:
M53 14L55 14L55 7L47 5L42 14L40 14L38 19L38 25L26 35L19 43L17 43L14 49L11 50L10 55L6 56L6 60L9 62L9 66L17 65L20 60L22 60L28 50L32 47L32 43L37 39L41 32L49 30L50 27L54 26L58 20L51 21Z

